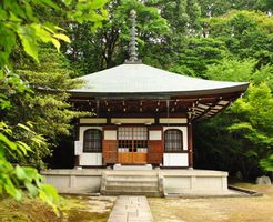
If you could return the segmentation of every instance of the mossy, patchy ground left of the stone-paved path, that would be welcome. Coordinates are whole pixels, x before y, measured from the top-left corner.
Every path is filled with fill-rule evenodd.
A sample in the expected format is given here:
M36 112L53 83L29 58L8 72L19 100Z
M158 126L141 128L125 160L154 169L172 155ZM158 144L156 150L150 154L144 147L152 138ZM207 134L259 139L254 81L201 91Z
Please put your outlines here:
M113 198L65 196L63 212L58 218L52 209L38 199L17 202L0 199L0 222L105 222Z

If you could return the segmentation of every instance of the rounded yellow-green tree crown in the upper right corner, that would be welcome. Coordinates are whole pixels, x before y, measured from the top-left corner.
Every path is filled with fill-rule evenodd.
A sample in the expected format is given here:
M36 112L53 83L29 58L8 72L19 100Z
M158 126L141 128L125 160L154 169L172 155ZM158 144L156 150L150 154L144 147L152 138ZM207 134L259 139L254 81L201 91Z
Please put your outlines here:
M255 59L257 68L272 64L272 17L261 12L231 11L204 22L209 26L210 37L225 42L234 57Z

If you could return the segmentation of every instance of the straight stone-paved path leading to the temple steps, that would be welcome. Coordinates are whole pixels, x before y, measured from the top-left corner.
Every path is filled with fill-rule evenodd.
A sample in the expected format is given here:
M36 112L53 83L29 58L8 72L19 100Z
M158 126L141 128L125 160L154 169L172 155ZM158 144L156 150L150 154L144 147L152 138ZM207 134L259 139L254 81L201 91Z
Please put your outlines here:
M153 222L146 196L120 195L108 222Z

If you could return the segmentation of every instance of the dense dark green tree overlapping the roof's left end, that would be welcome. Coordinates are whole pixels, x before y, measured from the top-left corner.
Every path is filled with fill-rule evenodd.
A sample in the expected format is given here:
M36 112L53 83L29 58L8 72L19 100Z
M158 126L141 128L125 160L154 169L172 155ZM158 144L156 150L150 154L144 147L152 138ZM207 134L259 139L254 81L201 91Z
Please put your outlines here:
M40 63L22 60L14 65L20 78L28 82L31 92L11 98L11 110L2 111L3 120L13 125L17 122L33 122L33 130L47 138L41 145L31 145L32 141L18 132L17 138L28 141L32 151L28 158L12 158L23 164L44 168L43 159L49 157L62 134L69 134L71 120L80 115L72 111L67 102L67 90L75 88L80 82L72 80L75 73L71 70L68 60L60 52L44 46L40 48Z

